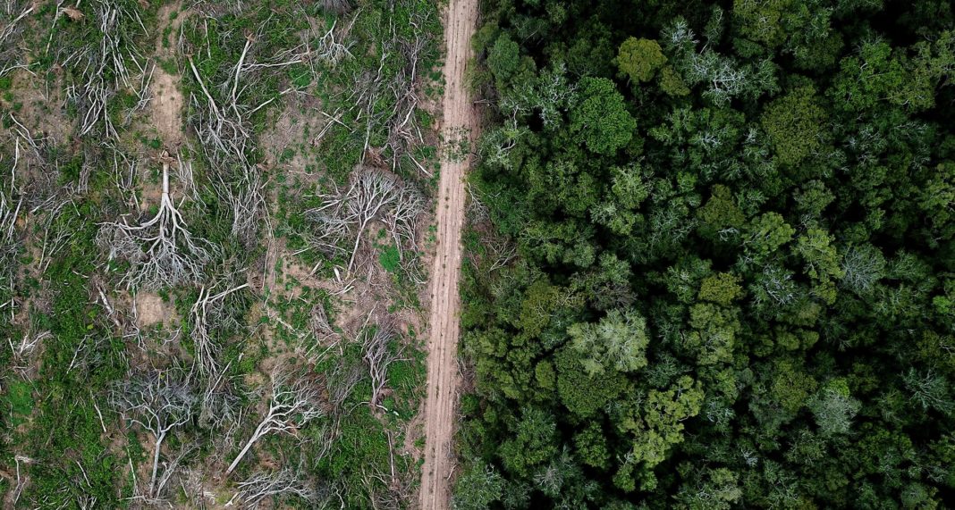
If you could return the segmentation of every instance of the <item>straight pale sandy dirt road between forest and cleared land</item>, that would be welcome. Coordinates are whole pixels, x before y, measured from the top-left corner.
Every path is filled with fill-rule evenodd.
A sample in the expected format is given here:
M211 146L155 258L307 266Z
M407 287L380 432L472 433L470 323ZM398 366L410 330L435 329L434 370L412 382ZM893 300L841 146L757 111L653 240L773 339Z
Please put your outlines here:
M472 52L471 36L477 28L477 0L451 0L447 16L442 129L446 139L453 139L462 129L474 133L477 127L477 117L464 83L464 70ZM437 250L431 271L426 442L420 493L422 510L446 509L451 499L448 479L453 466L460 305L457 281L461 269L464 173L467 167L467 158L460 161L446 159L441 163L435 206Z

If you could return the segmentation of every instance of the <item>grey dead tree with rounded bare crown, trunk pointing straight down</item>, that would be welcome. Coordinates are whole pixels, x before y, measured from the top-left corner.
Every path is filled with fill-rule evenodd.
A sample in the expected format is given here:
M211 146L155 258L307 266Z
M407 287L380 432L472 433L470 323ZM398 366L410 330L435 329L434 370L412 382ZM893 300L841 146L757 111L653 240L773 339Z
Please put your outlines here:
M134 376L114 388L111 400L117 413L138 424L156 441L144 498L158 500L169 479L168 471L178 464L176 461L167 465L166 473L159 479L161 483L157 483L162 441L194 415L196 396L189 376L178 368Z

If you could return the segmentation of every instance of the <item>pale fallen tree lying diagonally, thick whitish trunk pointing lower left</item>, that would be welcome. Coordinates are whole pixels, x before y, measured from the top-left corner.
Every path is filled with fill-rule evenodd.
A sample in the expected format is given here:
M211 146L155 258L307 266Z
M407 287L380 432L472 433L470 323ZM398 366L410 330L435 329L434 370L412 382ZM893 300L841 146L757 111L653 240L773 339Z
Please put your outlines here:
M319 408L318 389L304 377L297 377L282 368L272 372L268 410L239 455L232 460L226 474L232 473L252 445L269 434L294 434L309 421L323 415Z

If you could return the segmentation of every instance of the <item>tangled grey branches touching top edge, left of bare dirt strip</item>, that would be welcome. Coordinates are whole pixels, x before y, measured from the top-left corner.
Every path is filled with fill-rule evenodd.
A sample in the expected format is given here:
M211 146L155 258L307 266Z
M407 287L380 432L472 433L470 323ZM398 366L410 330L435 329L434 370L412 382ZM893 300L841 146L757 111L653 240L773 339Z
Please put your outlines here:
M138 36L147 35L139 17L138 2L121 0L94 0L95 27L92 34L83 34L76 45L71 40L60 40L56 61L64 69L74 71L74 83L67 87L67 99L80 112L78 133L92 133L97 127L109 138L118 138L110 114L110 104L120 89L133 91L138 96L134 110L149 102L149 80L155 66L134 44ZM59 8L56 19L66 16L79 20L84 14L74 8ZM55 24L55 22L54 22ZM68 33L68 31L60 31Z

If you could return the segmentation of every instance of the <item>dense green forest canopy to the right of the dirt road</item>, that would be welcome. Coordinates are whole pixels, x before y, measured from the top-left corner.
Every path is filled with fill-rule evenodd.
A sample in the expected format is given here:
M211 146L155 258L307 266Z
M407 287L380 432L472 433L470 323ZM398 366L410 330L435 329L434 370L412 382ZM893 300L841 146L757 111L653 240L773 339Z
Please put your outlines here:
M955 16L488 0L454 505L955 506Z

